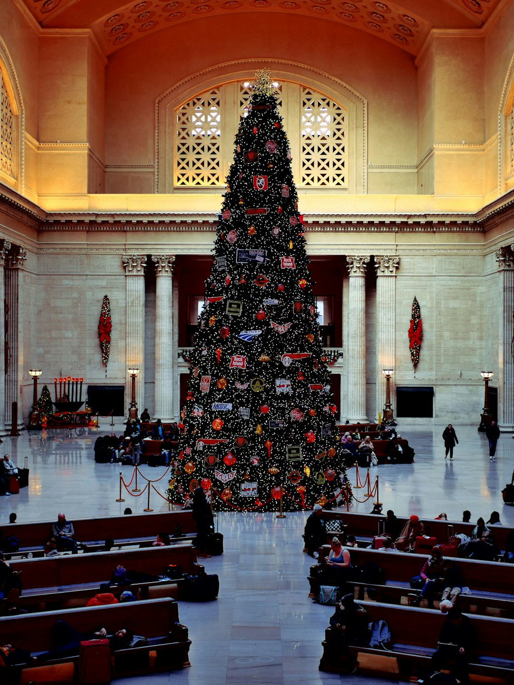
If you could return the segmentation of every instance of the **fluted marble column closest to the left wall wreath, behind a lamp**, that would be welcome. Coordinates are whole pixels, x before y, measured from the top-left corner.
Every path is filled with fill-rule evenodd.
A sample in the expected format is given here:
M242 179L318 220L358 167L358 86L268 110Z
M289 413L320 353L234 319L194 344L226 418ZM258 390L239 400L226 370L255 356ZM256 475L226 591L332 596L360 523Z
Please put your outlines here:
M144 267L146 256L128 255L123 257L125 282L127 285L126 317L126 359L127 369L133 366L139 369L136 378L136 403L138 416L144 409ZM125 409L127 415L131 400L131 378L128 371L125 382Z

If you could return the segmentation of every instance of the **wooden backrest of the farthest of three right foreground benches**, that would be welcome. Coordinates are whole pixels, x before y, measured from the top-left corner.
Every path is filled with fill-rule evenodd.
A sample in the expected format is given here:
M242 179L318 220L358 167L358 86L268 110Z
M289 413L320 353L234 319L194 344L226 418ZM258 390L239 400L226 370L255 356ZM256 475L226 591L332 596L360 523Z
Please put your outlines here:
M401 442L401 440L400 440ZM341 519L348 526L347 533L352 535L374 536L378 535L378 522L385 516L376 514L357 514L355 512L327 511L323 512L324 519ZM407 523L407 516L398 516L398 527L400 530ZM453 526L454 534L464 533L471 536L475 527L474 523L463 523L462 521L439 521L433 519L420 519L428 530L428 534L435 537L437 544L448 542L448 525ZM451 529L450 529L451 530ZM500 549L505 549L506 538L514 530L507 525L492 525L490 530L493 534L494 544Z

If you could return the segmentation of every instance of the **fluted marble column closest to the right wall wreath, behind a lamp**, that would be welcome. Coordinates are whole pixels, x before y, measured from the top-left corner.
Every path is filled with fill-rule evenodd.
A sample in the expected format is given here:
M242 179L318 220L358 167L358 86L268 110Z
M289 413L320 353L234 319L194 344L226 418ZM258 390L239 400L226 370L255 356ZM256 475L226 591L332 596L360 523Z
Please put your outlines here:
M396 362L396 269L400 258L375 257L376 269L376 416L384 413L385 377L383 369L394 369ZM394 375L390 381L393 414Z

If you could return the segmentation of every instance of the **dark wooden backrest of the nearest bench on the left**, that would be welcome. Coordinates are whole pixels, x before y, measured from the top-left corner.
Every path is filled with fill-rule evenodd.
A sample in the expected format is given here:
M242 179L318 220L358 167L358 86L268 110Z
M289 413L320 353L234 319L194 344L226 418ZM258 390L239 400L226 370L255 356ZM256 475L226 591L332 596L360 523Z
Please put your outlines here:
M58 614L44 611L40 614L3 616L0 621L0 640L29 651L53 649L55 621L66 621L80 633L94 632L100 627L107 631L126 627L136 635L147 638L167 636L175 621L179 621L177 602L170 598L64 609Z

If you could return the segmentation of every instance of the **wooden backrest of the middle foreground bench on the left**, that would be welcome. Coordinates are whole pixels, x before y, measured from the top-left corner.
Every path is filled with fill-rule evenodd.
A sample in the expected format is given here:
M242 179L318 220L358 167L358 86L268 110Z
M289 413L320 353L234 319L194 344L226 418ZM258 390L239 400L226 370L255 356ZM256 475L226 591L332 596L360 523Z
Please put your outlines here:
M22 571L23 589L30 590L107 582L118 564L124 566L127 571L150 575L161 575L168 564L180 565L185 573L193 573L195 561L196 549L192 545L170 545L117 552L21 559L10 562L10 566L13 571Z

